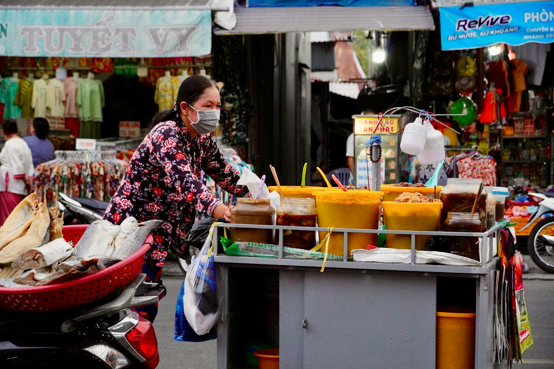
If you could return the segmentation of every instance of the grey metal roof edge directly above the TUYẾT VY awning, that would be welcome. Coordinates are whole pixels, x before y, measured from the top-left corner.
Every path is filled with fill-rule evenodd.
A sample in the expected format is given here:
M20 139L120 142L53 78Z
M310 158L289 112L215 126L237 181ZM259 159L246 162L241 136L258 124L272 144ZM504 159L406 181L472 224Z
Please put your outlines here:
M211 9L213 0L0 0L0 8L160 8Z

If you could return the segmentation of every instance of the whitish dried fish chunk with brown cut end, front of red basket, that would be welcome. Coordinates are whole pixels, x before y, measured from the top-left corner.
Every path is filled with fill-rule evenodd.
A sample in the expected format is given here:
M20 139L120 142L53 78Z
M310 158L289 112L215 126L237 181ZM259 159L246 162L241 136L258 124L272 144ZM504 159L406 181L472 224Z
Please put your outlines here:
M63 238L57 238L44 246L32 248L20 254L12 263L18 269L38 269L63 261L71 256L73 247Z

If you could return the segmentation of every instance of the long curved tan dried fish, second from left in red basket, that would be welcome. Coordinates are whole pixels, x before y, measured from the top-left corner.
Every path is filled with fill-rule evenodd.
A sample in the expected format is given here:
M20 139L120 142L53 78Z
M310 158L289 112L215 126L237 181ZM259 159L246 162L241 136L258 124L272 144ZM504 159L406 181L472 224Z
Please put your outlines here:
M29 230L23 237L8 243L0 250L0 264L13 262L19 254L42 245L50 226L50 215L44 202L38 204L37 211Z

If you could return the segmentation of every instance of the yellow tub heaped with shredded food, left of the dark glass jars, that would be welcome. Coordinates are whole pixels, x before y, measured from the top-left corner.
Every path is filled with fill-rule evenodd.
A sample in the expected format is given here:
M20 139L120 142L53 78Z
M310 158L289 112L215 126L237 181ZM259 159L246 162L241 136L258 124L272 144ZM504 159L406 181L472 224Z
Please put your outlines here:
M383 222L390 231L440 231L442 202L383 201ZM416 250L425 250L431 236L416 236ZM387 235L388 248L412 248L411 235Z

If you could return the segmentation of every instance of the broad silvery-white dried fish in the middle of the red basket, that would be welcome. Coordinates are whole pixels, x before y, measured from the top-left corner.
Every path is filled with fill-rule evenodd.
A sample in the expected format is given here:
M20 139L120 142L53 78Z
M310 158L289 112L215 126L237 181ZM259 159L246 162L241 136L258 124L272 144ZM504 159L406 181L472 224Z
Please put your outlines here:
M115 226L106 220L94 221L75 246L74 256L87 258L94 255L111 256L114 253L114 237L119 232Z

